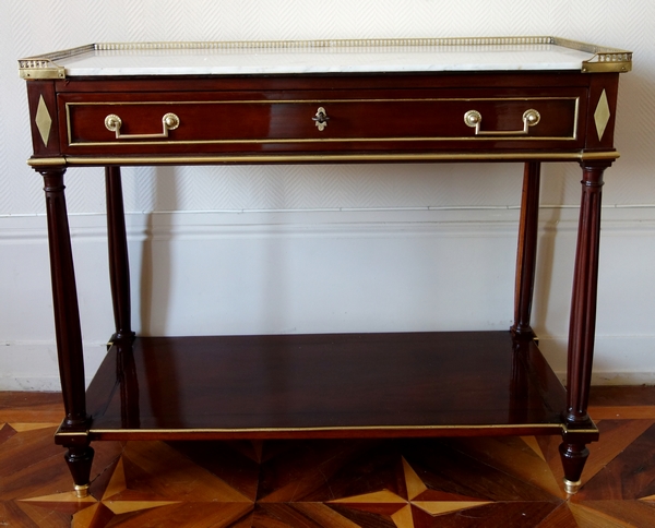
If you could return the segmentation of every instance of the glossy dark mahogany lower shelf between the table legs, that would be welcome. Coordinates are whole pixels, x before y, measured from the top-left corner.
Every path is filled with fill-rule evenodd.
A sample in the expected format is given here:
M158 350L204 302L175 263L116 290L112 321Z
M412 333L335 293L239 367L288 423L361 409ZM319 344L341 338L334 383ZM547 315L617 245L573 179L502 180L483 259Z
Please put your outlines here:
M564 407L509 332L143 337L87 391L91 440L559 434Z

